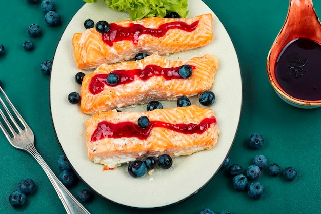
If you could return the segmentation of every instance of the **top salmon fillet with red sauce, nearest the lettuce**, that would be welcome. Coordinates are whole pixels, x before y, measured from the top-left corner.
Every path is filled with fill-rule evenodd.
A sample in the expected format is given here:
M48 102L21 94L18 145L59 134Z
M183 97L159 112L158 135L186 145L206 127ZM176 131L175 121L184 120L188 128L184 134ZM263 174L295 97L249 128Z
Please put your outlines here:
M188 27L185 28L183 23ZM105 63L133 59L140 52L164 55L195 49L212 40L212 24L212 14L179 19L152 17L118 21L109 25L110 35L104 36L95 28L75 33L72 38L74 57L78 68L88 70ZM164 26L169 27L163 30Z

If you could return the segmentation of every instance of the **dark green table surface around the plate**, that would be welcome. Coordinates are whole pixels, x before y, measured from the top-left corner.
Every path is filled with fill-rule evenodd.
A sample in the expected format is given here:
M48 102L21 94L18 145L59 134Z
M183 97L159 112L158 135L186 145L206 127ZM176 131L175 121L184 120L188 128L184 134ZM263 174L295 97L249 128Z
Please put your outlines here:
M192 0L190 0L192 1ZM17 109L36 137L36 148L55 174L59 174L57 157L62 154L51 122L49 107L50 76L39 70L44 60L52 60L55 48L73 15L85 3L82 0L54 0L62 25L49 27L40 4L26 0L0 1L0 44L6 53L0 57L0 80ZM268 163L283 169L293 166L298 175L293 181L282 176L270 177L266 170L258 181L265 186L264 196L253 200L246 192L232 188L226 170L187 200L157 209L135 209L114 204L95 195L83 203L91 213L198 213L211 208L217 213L320 213L321 210L321 109L299 109L279 99L266 74L266 58L282 27L289 1L204 1L226 27L239 57L243 79L243 105L239 128L230 151L231 163L246 168L256 154L264 154ZM314 6L321 14L321 1ZM87 17L84 17L84 19ZM43 35L34 38L35 49L27 52L23 42L29 39L27 27L37 23ZM265 145L259 150L247 146L247 139L260 133ZM0 213L64 213L54 188L31 155L11 147L0 134ZM9 194L18 189L23 178L32 178L36 191L27 196L25 205L13 208ZM103 184L102 184L103 185ZM110 184L105 184L110 185ZM119 184L121 185L121 184ZM69 188L74 196L87 188L83 182ZM139 197L139 196L137 196Z

